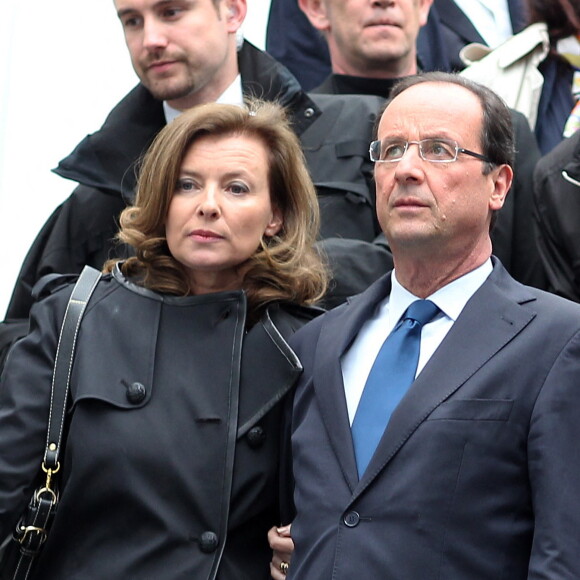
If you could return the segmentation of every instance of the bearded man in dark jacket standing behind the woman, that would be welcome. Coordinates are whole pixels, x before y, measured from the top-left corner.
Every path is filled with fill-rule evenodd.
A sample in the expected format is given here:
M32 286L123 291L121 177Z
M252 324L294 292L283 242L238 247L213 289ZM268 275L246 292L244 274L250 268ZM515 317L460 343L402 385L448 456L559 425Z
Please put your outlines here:
M133 197L139 158L166 122L196 104L241 104L248 96L287 107L317 186L321 237L336 237L341 254L346 245L349 255L359 256L356 271L341 268L337 256L337 300L378 277L390 256L373 262L364 251L379 233L368 143L380 100L307 95L287 69L240 42L246 0L199 0L185 7L117 0L115 6L141 82L55 170L79 186L33 243L7 318L28 316L32 287L42 275L80 272L87 263L100 268L105 259L123 256L125 250L113 243L116 217ZM333 262L332 241L324 249Z

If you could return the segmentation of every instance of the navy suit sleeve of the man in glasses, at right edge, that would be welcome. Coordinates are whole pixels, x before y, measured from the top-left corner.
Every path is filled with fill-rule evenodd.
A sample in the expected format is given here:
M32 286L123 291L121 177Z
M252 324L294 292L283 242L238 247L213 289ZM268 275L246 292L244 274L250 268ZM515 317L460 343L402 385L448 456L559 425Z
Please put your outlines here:
M578 578L580 571L580 333L548 370L528 435L534 540L528 578Z

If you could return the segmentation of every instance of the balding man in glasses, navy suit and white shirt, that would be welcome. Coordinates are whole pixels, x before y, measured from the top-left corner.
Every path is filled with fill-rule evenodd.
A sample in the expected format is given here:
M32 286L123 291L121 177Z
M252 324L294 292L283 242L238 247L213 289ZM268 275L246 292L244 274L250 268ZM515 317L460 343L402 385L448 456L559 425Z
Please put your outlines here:
M516 282L491 255L512 181L509 110L462 77L409 77L371 153L395 267L295 335L295 551L276 552L273 570L292 580L577 580L580 306ZM361 467L367 377L417 300L437 314ZM402 357L381 383L387 394ZM271 544L287 550L277 535Z

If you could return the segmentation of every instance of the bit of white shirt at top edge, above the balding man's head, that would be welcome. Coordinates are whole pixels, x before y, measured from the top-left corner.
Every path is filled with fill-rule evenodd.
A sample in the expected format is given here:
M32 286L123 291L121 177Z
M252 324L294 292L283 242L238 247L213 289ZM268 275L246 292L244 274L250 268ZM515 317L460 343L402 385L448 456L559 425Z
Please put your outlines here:
M455 4L491 48L514 33L507 0L455 0Z

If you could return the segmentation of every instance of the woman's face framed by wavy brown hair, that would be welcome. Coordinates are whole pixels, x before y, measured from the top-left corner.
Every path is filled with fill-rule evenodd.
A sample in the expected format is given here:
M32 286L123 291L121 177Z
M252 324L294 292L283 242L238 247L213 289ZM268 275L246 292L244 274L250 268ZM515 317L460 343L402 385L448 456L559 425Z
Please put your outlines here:
M186 151L165 231L195 294L241 288L240 265L282 227L268 169L266 147L254 136L204 136Z

